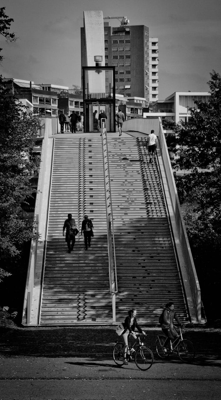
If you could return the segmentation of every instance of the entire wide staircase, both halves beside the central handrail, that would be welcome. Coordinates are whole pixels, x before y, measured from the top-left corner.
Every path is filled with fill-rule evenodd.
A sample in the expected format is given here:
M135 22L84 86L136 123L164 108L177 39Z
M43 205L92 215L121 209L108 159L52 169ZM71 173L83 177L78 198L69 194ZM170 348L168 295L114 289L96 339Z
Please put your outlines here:
M159 146L157 152L160 156ZM117 266L116 320L129 308L155 324L164 304L187 310L173 247L158 160L149 164L145 138L108 138ZM62 228L72 213L94 223L88 251L76 236L71 254ZM111 324L106 201L101 138L55 138L40 325Z

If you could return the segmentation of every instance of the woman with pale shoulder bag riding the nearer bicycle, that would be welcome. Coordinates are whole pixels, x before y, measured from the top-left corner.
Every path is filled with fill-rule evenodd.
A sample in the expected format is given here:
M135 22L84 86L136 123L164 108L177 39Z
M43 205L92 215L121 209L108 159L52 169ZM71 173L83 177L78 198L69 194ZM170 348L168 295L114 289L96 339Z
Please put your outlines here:
M142 333L143 335L145 335L145 332L143 332L141 327L137 324L136 315L137 315L137 310L132 308L131 310L128 311L128 316L125 318L125 321L123 323L124 331L121 333L121 336L123 336L123 341L124 341L123 364L125 364L125 365L128 364L127 358L126 358L127 347L128 347L128 335L131 334L131 336L134 339L133 346L135 345L135 343L137 341L137 336L135 335L135 332L134 332L135 328L137 328L139 333ZM133 346L131 348L131 353L135 352Z

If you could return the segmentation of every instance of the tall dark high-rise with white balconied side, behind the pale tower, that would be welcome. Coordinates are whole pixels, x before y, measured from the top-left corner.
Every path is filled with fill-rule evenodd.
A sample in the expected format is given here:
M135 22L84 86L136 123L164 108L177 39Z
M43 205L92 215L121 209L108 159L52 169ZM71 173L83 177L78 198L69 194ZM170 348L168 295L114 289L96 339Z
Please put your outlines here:
M81 28L82 66L86 65ZM96 53L96 43L94 44ZM145 25L109 26L104 22L105 66L115 66L115 92L125 97L158 100L158 40ZM99 54L96 54L99 55Z

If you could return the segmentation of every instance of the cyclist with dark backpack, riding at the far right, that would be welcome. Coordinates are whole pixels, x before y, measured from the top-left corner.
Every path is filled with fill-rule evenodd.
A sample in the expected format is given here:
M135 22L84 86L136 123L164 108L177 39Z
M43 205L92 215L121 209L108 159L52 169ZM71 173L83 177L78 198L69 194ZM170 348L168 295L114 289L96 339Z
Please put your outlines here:
M167 336L165 346L169 343L170 340L174 340L178 336L178 333L173 326L174 319L177 321L177 324L179 324L179 326L183 326L182 322L179 320L174 310L173 302L169 302L165 305L165 308L159 317L159 324L161 325L161 329L165 336ZM165 353L167 353L167 348L165 348L164 351Z

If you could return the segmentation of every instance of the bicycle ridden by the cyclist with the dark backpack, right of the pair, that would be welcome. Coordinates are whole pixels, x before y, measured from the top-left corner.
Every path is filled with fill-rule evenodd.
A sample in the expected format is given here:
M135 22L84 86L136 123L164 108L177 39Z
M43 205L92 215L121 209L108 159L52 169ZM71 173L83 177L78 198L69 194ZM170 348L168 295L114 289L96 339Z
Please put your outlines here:
M168 339L165 335L157 335L156 340L156 352L159 358L169 357L175 350L177 350L177 356L183 362L191 363L195 357L195 347L190 340L183 339L184 328L179 328L180 334L171 342L169 349L165 346L165 341ZM176 344L175 344L176 342ZM167 344L167 346L168 346ZM175 344L175 345L174 345Z

